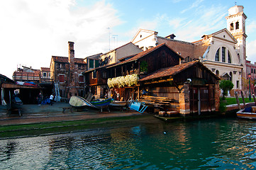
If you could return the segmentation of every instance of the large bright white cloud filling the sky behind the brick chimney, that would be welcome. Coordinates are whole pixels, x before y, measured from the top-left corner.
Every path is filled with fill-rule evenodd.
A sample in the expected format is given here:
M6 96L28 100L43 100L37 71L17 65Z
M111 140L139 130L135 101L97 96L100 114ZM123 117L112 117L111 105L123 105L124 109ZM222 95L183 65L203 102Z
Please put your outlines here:
M75 57L108 50L106 28L122 23L116 11L105 1L78 5L73 0L2 1L0 74L11 78L17 64L50 67L52 55L68 55L68 41L75 43Z

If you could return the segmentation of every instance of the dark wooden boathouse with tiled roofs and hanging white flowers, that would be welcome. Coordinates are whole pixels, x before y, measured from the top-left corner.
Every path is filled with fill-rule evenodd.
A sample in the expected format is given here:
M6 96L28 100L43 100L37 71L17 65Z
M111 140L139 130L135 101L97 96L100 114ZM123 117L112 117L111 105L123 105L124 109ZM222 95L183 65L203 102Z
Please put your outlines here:
M84 72L87 91L96 98L108 90L117 101L143 101L154 108L150 112L158 108L187 115L218 110L219 78L201 62L182 63L183 59L162 43Z

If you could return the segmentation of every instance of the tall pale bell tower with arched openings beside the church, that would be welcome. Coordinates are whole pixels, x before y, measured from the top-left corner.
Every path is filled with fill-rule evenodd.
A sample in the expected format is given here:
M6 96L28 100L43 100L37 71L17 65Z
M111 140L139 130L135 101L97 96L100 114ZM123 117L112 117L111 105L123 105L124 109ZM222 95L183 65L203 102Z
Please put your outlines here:
M227 29L238 41L235 45L235 49L238 53L240 63L243 64L242 77L246 77L246 38L245 34L245 20L247 16L243 13L243 6L233 6L228 9ZM243 86L243 85L242 85ZM244 86L243 86L244 87Z

